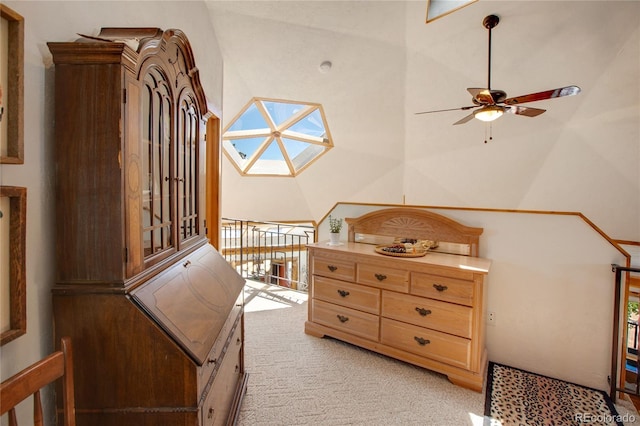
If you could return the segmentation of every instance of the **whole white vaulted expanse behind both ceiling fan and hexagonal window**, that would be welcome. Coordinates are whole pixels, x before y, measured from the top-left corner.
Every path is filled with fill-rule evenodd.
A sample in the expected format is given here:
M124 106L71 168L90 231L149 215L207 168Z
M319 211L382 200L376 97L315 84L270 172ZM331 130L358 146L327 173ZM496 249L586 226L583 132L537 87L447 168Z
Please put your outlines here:
M619 218L602 203L626 202L638 217L640 2L480 0L429 24L426 0L207 5L225 61L224 124L254 96L318 102L334 138L295 182L225 175L255 191L269 219L281 217L262 202L266 188L287 191L295 218L318 218L336 201L406 201L581 211L615 234ZM466 89L486 87L489 14L500 17L492 88L516 96L576 84L582 93L491 127L453 126L465 111L415 115L470 105ZM624 221L640 233L639 220Z

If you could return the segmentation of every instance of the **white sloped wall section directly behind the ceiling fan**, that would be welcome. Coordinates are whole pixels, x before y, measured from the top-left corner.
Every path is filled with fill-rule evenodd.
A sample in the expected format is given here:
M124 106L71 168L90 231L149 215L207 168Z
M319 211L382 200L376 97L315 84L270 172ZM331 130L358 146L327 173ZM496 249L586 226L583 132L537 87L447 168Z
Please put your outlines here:
M581 212L609 236L639 241L640 3L478 2L429 25L410 19L422 8L407 7L406 202ZM453 126L466 111L410 114L469 105L466 88L486 87L481 22L494 12L492 88L582 92L531 103L547 112L506 114L490 128ZM430 96L442 85L448 97Z

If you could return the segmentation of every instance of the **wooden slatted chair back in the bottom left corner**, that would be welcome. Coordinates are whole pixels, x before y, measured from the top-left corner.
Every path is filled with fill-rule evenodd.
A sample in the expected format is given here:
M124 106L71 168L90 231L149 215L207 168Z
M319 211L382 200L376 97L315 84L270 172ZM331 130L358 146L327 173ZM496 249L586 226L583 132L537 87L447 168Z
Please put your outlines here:
M71 339L63 337L59 351L30 365L0 384L0 416L8 413L9 426L17 426L15 407L33 395L33 425L43 426L40 389L62 378L64 426L75 426L73 353Z

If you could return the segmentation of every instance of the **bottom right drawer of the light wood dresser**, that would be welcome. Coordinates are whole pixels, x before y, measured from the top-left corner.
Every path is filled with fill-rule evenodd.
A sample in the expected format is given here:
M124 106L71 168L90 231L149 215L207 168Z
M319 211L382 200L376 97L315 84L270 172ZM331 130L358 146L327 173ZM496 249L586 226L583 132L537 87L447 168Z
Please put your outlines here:
M465 369L471 365L471 341L458 336L382 318L381 342L416 355Z

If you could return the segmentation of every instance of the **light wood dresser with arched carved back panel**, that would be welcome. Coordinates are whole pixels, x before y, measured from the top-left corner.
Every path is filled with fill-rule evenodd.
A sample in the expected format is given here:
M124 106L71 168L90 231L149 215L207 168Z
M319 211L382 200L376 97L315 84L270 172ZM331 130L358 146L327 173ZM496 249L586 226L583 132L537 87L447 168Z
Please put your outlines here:
M349 240L309 246L305 332L330 336L446 375L481 391L487 367L485 294L491 262L477 257L481 228L428 211L394 208L346 219ZM430 239L469 255L379 254L367 238ZM471 255L473 254L473 255Z

